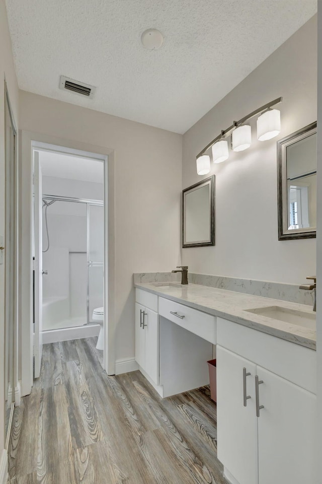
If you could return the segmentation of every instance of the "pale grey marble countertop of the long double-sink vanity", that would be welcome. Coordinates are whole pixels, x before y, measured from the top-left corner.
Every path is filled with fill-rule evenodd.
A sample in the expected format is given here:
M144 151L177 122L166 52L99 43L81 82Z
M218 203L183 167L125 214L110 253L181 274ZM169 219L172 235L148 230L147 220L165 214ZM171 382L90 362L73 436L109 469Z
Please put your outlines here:
M301 344L312 350L316 349L315 330L246 311L248 309L279 306L315 314L310 306L196 284L182 286L172 283L170 287L156 287L153 283L146 283L134 284L134 286L214 316L229 319L235 323Z

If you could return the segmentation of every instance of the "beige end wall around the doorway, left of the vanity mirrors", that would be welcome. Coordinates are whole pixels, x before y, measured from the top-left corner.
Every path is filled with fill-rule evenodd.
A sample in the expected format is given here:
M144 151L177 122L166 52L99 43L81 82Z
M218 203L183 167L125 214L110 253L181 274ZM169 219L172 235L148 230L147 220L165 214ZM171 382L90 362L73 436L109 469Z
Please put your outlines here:
M182 136L24 91L20 128L115 150L116 359L134 357L132 274L178 262Z

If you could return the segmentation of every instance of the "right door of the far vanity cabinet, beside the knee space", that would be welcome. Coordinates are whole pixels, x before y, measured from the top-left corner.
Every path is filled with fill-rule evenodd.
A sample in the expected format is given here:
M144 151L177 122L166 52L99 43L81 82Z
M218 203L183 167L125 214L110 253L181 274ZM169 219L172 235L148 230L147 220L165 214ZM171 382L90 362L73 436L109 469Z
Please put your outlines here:
M159 315L151 309L144 309L145 365L144 370L158 385L159 383Z

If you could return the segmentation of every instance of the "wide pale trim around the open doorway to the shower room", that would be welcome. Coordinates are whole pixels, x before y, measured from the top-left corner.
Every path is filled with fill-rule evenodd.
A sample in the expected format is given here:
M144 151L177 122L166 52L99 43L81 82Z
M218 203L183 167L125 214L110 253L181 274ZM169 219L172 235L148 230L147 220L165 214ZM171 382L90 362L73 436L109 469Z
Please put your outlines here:
M20 327L21 327L21 387L22 395L28 395L33 386L32 341L32 152L35 148L65 152L74 155L85 153L98 155L104 161L104 308L105 352L104 368L109 375L115 374L115 152L108 147L57 138L47 134L21 131L20 144ZM79 153L82 152L82 153ZM85 152L85 153L84 153Z

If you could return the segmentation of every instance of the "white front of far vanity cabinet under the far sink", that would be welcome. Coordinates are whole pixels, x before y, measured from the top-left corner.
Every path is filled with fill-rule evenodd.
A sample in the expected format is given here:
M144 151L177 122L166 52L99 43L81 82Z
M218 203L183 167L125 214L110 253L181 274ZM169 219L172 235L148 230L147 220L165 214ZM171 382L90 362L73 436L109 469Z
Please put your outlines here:
M136 297L143 304L135 303L135 360L140 369L158 385L159 315L155 311L157 297L154 299L151 296L153 295L139 291ZM147 305L152 306L152 309Z

